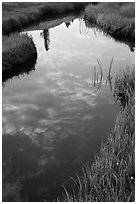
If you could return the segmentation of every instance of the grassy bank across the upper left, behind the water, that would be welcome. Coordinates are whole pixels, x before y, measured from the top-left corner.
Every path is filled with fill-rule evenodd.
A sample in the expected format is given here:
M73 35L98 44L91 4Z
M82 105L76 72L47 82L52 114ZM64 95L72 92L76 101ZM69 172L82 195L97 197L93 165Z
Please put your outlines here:
M3 3L2 34L21 31L33 23L59 14L80 11L87 3L84 2L50 2L50 3Z

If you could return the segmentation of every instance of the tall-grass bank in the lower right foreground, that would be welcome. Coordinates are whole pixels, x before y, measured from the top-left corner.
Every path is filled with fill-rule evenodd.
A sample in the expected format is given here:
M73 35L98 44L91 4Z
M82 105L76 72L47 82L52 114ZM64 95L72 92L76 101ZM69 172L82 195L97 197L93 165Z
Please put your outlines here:
M75 179L77 193L65 190L69 202L135 201L135 73L127 69L115 81L121 111L114 131L102 145L92 166L83 167Z

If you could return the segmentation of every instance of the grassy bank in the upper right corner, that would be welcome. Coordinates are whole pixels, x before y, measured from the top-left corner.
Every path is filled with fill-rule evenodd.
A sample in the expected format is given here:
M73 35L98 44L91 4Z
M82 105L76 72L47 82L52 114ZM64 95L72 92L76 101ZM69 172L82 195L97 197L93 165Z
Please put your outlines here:
M116 39L135 41L135 3L99 3L88 5L84 19L89 27L96 26Z

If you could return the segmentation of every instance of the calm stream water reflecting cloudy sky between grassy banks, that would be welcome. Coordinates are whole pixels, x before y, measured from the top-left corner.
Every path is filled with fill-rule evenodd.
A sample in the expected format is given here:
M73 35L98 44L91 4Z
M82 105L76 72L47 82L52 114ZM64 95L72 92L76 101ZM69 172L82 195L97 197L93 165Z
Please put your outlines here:
M106 84L110 61L113 80L134 64L134 53L73 16L27 33L38 51L34 70L3 87L3 182L28 201L52 201L112 131L119 105ZM100 89L93 82L97 59Z

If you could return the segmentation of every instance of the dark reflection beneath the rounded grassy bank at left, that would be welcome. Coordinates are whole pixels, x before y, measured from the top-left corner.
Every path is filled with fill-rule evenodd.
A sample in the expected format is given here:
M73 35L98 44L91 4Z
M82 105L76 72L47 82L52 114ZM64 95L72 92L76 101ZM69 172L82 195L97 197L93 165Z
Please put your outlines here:
M32 74L35 71L36 61L37 58L33 58L13 69L2 71L2 86L4 87L10 80L23 78Z

